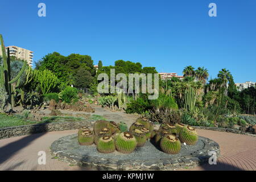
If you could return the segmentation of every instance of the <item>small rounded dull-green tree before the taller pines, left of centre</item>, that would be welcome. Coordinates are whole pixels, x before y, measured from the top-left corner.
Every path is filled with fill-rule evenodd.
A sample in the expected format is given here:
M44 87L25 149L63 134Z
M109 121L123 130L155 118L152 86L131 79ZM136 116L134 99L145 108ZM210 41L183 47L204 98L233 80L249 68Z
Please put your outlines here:
M89 88L92 82L92 74L83 67L80 67L75 75L75 86L77 88Z

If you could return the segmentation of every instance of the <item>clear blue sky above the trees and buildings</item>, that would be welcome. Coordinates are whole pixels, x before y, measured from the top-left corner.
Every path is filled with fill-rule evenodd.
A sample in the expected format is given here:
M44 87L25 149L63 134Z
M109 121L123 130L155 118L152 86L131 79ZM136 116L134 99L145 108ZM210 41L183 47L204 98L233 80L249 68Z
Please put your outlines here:
M38 16L46 3L47 16ZM208 5L217 4L217 17ZM0 2L5 46L102 60L139 61L158 72L205 67L212 78L229 69L235 82L256 81L255 0L48 0Z

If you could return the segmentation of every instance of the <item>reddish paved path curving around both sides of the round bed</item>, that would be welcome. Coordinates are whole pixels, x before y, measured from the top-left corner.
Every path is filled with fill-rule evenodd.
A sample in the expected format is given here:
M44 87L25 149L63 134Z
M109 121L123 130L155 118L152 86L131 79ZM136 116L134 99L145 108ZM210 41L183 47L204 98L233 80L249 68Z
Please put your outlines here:
M54 131L0 140L0 170L85 170L52 158L51 143L77 130ZM256 171L256 137L198 130L199 135L220 144L221 157L216 166L204 165L192 170L254 170ZM38 164L38 152L46 152L46 165Z

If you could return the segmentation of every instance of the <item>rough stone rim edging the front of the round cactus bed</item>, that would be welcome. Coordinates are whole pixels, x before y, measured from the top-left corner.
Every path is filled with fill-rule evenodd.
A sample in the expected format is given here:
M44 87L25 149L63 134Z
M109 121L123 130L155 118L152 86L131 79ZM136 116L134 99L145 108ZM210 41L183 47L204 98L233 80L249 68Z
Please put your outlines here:
M69 135L70 137L73 135ZM66 136L66 137L69 137ZM75 136L75 135L74 135ZM96 169L99 171L172 171L175 169L194 168L201 164L208 163L209 151L215 151L217 157L220 155L220 146L213 140L200 137L204 143L203 149L193 152L189 156L179 156L177 158L150 159L150 160L133 160L133 159L111 159L102 158L102 156L90 156L86 154L79 157L74 154L68 154L68 151L61 150L62 144L66 137L61 137L52 143L51 154L59 160L76 165Z

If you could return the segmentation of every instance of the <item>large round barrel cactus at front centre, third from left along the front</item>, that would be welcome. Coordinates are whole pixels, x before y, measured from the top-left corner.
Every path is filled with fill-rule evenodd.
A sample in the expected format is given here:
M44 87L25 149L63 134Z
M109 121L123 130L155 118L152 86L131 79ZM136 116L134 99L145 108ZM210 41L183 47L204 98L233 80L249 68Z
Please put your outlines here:
M121 133L115 139L115 148L123 154L130 154L135 150L136 146L137 140L133 134L129 132Z

